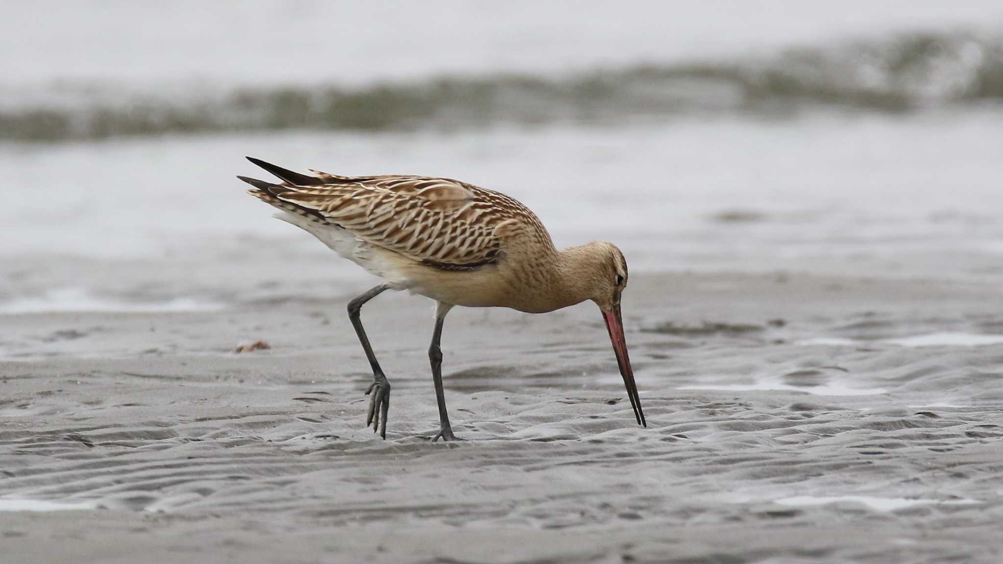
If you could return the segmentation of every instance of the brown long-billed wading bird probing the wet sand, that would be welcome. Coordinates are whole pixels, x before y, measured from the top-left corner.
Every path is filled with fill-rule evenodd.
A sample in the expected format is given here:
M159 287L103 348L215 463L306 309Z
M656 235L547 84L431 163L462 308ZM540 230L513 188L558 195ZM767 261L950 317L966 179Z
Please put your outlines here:
M362 306L386 290L435 300L428 358L439 432L456 441L442 391L440 340L455 306L506 307L546 313L587 300L599 306L638 425L647 427L627 353L621 296L627 260L612 243L558 250L536 214L518 200L464 182L411 175L347 177L309 170L304 175L252 157L275 176L270 183L238 176L247 192L381 279L348 302L348 317L373 371L366 427L386 440L390 381L362 326Z

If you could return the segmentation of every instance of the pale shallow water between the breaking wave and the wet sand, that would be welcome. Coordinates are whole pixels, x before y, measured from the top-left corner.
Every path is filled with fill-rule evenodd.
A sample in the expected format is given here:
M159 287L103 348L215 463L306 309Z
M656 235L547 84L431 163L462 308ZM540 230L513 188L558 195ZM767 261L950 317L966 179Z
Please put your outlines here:
M302 270L293 261L304 260L329 265L332 278L358 278L351 264L243 193L233 175L258 174L243 154L299 169L439 174L498 189L534 209L559 245L612 240L632 270L986 279L1003 264L992 211L1003 209L993 143L1001 115L0 147L12 186L32 186L42 170L59 179L0 210L0 255L12 259L0 265L0 302L7 310L18 299L55 303L70 288L81 299L97 292L130 301L150 290L139 265L153 260L189 276L146 301L219 294L224 265L246 269L262 254L289 254L286 281ZM70 275L64 257L96 262ZM105 265L139 275L91 276Z

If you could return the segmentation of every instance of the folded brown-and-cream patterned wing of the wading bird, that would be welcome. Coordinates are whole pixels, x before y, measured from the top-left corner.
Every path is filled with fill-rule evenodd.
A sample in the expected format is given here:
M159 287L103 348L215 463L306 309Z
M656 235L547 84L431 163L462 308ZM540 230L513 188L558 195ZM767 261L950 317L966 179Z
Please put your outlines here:
M445 269L477 268L503 255L506 240L546 230L536 216L503 194L450 179L300 175L262 166L283 181L242 179L359 239ZM550 237L547 236L548 241Z

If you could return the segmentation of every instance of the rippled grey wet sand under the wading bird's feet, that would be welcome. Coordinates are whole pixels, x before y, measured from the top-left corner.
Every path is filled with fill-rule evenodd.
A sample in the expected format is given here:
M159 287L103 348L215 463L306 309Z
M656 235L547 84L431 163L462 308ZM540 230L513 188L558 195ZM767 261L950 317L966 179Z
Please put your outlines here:
M364 429L365 288L0 315L2 561L999 561L998 287L632 274L648 429L595 306L457 309L458 444L429 443L431 305L403 294L363 309L393 383Z

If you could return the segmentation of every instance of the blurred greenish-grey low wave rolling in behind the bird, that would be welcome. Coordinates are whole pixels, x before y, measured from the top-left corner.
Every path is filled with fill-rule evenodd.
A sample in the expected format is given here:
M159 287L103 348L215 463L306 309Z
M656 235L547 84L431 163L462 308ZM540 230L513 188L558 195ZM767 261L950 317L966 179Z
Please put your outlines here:
M817 107L909 112L1003 101L1003 37L919 33L766 58L607 68L544 77L438 77L160 90L0 85L0 140L61 142L279 129L399 130L501 123L620 123L693 113L796 115Z

